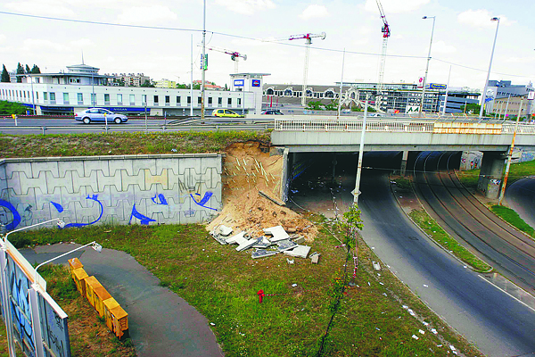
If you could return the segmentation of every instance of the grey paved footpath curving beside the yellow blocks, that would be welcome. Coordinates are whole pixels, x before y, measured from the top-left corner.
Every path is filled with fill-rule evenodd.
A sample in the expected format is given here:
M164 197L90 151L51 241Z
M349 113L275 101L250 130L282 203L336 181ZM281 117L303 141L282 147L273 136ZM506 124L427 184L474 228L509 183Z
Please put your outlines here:
M33 264L78 246L44 245L20 252ZM128 312L130 337L139 357L223 356L201 313L168 288L159 286L160 280L131 255L105 248L97 253L87 247L54 262L66 264L74 257Z

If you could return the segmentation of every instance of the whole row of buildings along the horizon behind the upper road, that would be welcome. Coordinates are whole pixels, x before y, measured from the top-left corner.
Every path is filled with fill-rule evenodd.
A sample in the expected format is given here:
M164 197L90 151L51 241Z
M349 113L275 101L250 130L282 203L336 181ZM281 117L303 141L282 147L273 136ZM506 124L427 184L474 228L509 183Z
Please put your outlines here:
M202 93L199 89L176 88L176 82L164 79L158 87L140 87L149 79L143 73L99 74L99 69L86 64L67 66L58 73L25 74L22 83L0 84L0 100L19 102L37 114L71 114L98 106L114 112L151 115L199 115ZM124 87L111 85L120 77ZM302 86L264 84L267 73L231 74L229 90L205 85L205 110L226 108L239 113L256 113L267 106L300 107ZM166 82L167 81L167 82ZM195 81L200 84L200 81ZM193 86L195 87L195 86ZM200 87L200 86L199 86ZM380 112L419 112L423 90L416 84L343 83L342 104L346 108L362 105L366 100ZM330 104L340 99L340 83L333 86L307 87L307 100ZM511 81L490 80L486 110L504 117L533 114L531 105L535 89L531 85L513 85ZM423 112L465 112L466 104L479 104L481 93L468 87L429 84L422 104ZM262 103L264 104L262 106Z

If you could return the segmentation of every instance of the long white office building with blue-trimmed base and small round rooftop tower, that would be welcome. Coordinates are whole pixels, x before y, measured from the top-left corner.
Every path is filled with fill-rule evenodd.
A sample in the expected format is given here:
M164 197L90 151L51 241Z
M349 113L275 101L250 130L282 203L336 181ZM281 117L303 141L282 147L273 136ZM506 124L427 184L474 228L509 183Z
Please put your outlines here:
M161 116L201 113L201 90L193 90L192 94L190 89L108 86L112 76L99 75L98 68L78 64L67 69L59 73L21 75L22 83L0 83L0 100L24 104L29 112L35 111L37 115L71 115L95 106L112 112L146 111ZM238 113L259 114L264 75L241 73L243 86L232 86L235 90L205 90L206 113L227 108Z

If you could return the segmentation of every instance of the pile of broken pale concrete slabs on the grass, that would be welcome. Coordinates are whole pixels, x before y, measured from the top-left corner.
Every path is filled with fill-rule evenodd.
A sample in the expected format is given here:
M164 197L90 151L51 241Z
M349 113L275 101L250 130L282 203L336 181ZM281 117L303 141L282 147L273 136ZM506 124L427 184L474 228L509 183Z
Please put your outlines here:
M295 228L288 228L291 232L295 231ZM292 234L292 237L288 235L286 230L282 226L276 226L271 228L264 228L266 236L250 237L250 235L243 231L229 237L233 228L220 225L210 232L210 235L220 245L238 245L235 249L237 252L243 252L250 248L256 248L251 252L252 259L264 258L276 253L284 253L292 257L306 259L309 256L310 247L308 245L300 245L305 242L304 237ZM320 253L313 253L310 255L312 263L317 264L319 262ZM286 258L288 264L293 264L294 260Z

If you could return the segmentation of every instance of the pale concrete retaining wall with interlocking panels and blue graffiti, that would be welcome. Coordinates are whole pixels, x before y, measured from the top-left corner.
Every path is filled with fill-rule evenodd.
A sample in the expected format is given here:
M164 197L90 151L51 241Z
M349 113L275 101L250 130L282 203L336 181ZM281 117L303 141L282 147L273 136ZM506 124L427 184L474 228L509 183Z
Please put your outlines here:
M221 154L4 159L0 223L200 223L221 209L221 168Z

